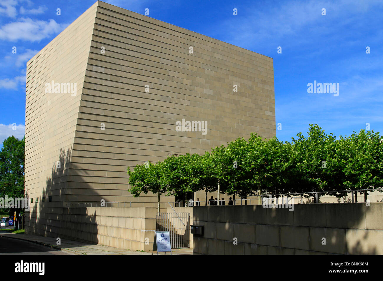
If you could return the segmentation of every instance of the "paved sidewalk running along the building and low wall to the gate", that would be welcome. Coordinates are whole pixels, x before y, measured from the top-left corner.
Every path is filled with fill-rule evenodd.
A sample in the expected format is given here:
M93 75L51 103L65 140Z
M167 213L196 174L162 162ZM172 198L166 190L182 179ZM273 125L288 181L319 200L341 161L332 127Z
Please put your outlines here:
M139 252L136 250L122 250L118 248L113 248L101 244L90 244L77 242L67 239L61 239L61 245L56 245L56 238L52 237L43 237L37 235L27 235L27 234L13 234L13 233L0 233L0 237L8 237L13 239L21 239L36 244L44 245L54 249L62 250L72 255L151 255L152 252ZM165 253L158 253L159 255L164 255ZM170 255L169 252L166 253ZM157 252L154 251L154 255L157 255ZM193 255L193 249L173 249L172 255Z

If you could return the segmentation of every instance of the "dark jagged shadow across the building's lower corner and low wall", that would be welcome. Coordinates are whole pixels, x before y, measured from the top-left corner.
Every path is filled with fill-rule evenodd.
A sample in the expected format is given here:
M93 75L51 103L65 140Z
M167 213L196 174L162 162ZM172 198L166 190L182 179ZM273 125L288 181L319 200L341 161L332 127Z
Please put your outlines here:
M87 172L77 169L76 164L71 162L72 148L68 148L67 151L60 149L59 155L58 162L52 166L51 176L46 179L39 202L35 203L29 212L29 222L26 218L26 234L97 244L96 213L88 214L85 208L67 207L67 203L71 203L68 197L72 195L72 190L75 190L73 186L68 187L68 184L73 184L71 177L86 176ZM80 182L79 186L87 188L89 196L98 195L85 180Z

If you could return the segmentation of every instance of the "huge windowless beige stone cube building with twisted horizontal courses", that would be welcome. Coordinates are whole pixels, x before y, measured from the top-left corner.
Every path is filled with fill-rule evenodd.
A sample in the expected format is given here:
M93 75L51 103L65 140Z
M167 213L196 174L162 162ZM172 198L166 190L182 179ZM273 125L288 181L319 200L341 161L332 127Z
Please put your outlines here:
M155 206L155 195L128 192L127 167L275 136L272 58L100 1L26 77L28 233L59 233L68 203ZM183 120L206 131L179 132Z

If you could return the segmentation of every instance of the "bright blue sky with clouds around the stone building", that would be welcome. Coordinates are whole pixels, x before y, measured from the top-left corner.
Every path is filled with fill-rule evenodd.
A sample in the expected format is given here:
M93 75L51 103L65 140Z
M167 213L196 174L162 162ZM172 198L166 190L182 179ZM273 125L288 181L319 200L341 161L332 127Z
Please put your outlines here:
M24 136L26 62L94 2L0 1L1 143ZM366 123L382 134L381 0L104 2L141 14L149 8L152 18L272 57L279 140L306 133L310 123L336 136L366 129ZM314 80L339 83L339 96L308 93Z

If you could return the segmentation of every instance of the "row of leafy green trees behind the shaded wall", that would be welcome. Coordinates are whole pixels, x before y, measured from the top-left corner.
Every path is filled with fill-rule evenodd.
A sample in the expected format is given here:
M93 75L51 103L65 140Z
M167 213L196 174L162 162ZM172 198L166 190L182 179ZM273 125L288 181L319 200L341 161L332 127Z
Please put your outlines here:
M344 192L383 186L383 137L361 130L339 140L318 125L308 137L299 133L291 142L264 140L252 133L203 155L172 156L128 168L130 192L160 195L219 191L227 195L319 192L337 197ZM309 196L309 195L306 195ZM311 194L313 196L313 194ZM365 198L367 192L365 193ZM315 200L315 198L314 198Z

